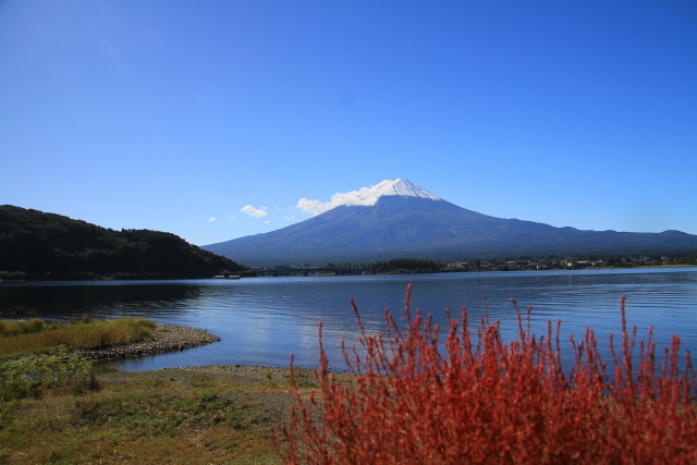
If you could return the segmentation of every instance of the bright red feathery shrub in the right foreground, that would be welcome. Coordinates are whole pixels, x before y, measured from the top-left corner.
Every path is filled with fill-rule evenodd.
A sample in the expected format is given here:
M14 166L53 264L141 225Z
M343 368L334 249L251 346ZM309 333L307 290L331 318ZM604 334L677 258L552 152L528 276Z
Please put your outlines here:
M362 351L342 346L355 375L329 371L320 325L318 393L296 390L297 407L274 432L288 463L695 463L697 381L689 352L684 364L673 336L662 364L649 331L635 356L636 328L622 348L601 359L592 330L571 338L573 367L564 371L560 325L530 333L518 316L519 339L504 343L499 323L485 319L472 333L467 313L449 314L440 328L418 310L407 328L386 310L387 331L366 334ZM635 359L636 358L636 359ZM635 365L636 360L636 365ZM292 363L291 363L292 368ZM609 370L609 368L611 368ZM320 395L318 395L320 394Z

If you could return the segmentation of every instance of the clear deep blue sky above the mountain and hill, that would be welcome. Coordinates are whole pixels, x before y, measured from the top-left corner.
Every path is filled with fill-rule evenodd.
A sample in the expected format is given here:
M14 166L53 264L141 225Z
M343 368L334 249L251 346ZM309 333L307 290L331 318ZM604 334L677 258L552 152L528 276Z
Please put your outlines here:
M405 178L697 234L695 173L694 1L0 0L0 204L206 245Z

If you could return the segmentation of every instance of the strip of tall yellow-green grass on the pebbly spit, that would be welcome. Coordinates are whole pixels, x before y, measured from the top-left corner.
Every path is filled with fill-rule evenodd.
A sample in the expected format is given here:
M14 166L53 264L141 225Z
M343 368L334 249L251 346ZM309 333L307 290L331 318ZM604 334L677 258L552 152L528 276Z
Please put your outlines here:
M0 321L0 356L47 352L61 345L68 348L100 348L149 339L155 323L143 318L90 321L83 318L70 323Z

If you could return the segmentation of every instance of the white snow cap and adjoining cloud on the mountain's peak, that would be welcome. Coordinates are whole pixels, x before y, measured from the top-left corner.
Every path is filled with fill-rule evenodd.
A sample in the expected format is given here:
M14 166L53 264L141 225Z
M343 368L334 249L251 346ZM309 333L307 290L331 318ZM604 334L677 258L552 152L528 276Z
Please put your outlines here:
M419 187L407 180L398 178L395 180L382 181L381 183L376 184L372 187L363 187L358 191L352 191L345 194L337 193L331 197L330 201L319 201L301 198L295 207L307 213L319 215L323 213L327 210L331 210L334 207L339 207L340 205L369 207L377 204L380 197L391 195L440 200L439 197L436 197L425 188Z

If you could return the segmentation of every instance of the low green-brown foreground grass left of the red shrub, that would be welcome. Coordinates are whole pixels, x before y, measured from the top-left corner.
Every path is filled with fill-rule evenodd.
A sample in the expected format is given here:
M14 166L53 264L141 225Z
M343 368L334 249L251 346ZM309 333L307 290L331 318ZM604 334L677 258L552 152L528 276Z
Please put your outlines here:
M280 463L270 426L293 402L286 369L106 372L97 382L0 404L0 462Z

